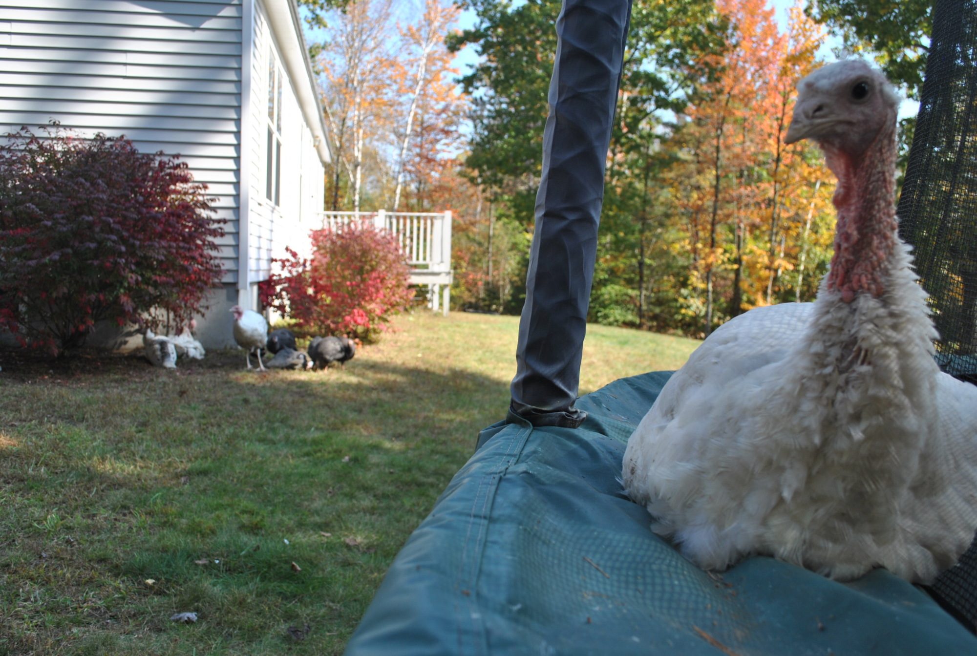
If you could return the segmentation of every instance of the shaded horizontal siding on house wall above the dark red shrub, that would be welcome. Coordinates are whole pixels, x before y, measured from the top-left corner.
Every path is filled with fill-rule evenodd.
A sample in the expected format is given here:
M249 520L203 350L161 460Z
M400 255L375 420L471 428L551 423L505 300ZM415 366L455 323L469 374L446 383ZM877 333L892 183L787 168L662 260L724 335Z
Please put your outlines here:
M237 279L241 0L0 0L0 132L55 119L181 156Z

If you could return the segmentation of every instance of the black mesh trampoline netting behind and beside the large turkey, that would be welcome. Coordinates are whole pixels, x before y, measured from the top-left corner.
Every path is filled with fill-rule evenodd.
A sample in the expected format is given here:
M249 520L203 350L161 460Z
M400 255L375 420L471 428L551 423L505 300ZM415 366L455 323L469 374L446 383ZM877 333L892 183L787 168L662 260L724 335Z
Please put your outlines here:
M933 7L899 216L940 331L940 367L977 384L977 0ZM932 592L977 626L977 538Z

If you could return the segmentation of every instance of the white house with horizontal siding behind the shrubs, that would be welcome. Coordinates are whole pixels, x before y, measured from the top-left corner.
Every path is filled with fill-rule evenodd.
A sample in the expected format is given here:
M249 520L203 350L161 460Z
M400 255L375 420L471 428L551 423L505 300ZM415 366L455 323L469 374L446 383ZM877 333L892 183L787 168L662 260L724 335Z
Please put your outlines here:
M329 161L295 0L0 0L0 133L56 119L180 154L225 224L223 289L198 338L321 225Z

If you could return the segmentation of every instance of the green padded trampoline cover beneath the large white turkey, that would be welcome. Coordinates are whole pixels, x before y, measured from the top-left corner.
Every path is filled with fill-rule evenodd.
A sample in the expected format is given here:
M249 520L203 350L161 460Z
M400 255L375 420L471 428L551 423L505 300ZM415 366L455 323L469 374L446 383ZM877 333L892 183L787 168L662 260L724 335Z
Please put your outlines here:
M977 654L977 638L884 570L840 584L753 557L710 574L655 536L617 476L668 375L580 398L576 430L483 431L347 653Z

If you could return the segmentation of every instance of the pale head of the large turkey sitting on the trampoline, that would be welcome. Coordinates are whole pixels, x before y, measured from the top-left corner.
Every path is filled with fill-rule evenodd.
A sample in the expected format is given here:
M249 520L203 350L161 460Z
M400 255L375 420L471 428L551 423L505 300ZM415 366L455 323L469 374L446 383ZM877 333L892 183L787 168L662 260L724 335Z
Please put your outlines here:
M881 71L862 60L819 68L797 84L797 91L785 143L813 139L826 152L856 159L880 133L895 129L899 97Z

